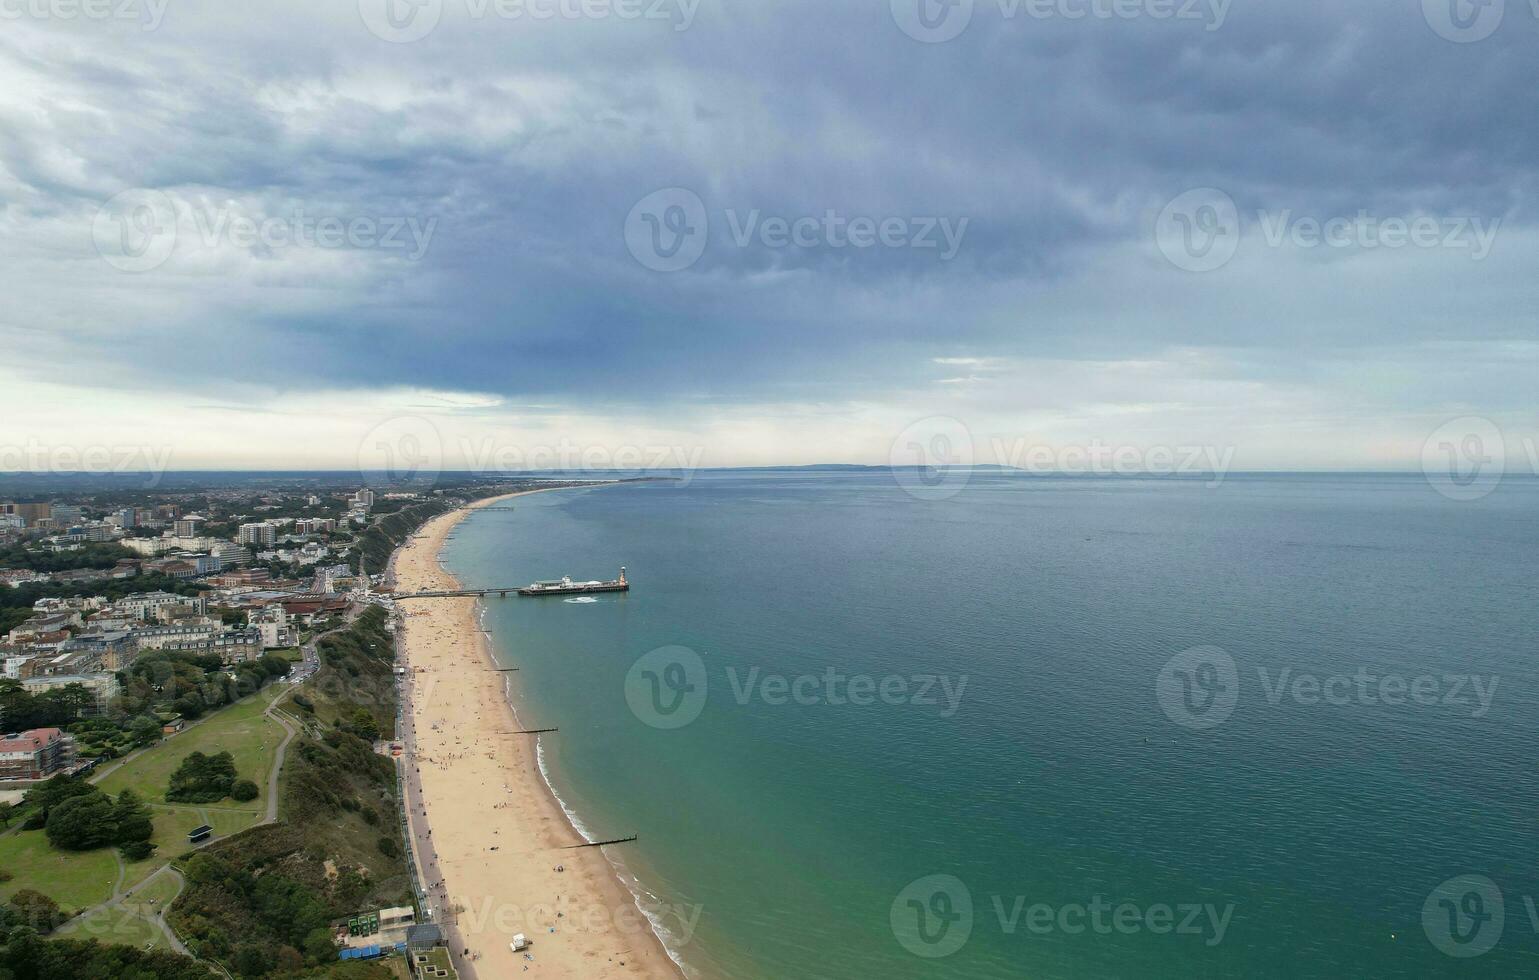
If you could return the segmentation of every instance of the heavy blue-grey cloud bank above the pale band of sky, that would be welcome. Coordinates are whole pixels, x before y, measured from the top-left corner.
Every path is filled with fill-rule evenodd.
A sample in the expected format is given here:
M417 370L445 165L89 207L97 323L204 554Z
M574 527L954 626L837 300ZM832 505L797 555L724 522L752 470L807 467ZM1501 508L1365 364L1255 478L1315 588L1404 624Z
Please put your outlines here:
M28 303L92 300L62 340L149 334L209 385L663 405L902 391L956 351L1271 349L1230 362L1265 380L1317 377L1330 349L1400 345L1414 372L1436 369L1437 343L1534 338L1527 5L1468 45L1390 2L1236 0L1214 23L980 0L945 43L908 37L886 0L706 3L682 32L468 20L448 0L406 45L339 6L175 8L151 34L31 23L5 45L11 77L54 80L0 103L23 245L29 222L89 222L125 188L436 222L420 260L359 252L339 282L172 263L71 289L78 257L32 257ZM1151 238L1197 186L1225 191L1253 235L1208 274ZM625 237L663 188L697 195L709 225L676 272ZM1259 246L1262 209L1502 228L1479 263L1342 262ZM777 218L814 243L779 245ZM856 218L899 222L902 245L837 245L830 222L848 238ZM916 245L926 226L934 248Z

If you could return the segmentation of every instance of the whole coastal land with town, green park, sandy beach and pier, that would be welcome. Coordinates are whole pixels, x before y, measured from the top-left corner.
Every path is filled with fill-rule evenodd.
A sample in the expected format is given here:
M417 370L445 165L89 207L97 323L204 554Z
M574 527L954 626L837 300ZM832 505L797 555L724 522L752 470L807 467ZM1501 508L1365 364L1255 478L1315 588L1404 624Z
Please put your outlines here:
M439 565L477 506L600 483L0 502L9 948L32 929L45 962L175 978L674 977L599 851L569 851L531 746L494 745L516 720L480 592ZM536 905L511 929L463 915L488 902ZM563 920L580 908L609 925Z

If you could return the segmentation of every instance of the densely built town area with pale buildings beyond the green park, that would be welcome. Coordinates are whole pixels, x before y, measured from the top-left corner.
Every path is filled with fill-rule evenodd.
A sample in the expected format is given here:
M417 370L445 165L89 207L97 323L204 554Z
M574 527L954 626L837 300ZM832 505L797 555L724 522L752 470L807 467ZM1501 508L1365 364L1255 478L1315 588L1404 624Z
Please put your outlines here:
M317 620L368 595L359 535L371 520L417 500L363 488L111 509L0 503L0 586L9 586L0 592L0 677L102 715L119 697L117 674L145 651L231 666L294 649ZM15 602L31 595L29 606ZM3 712L0 705L0 725L9 725Z

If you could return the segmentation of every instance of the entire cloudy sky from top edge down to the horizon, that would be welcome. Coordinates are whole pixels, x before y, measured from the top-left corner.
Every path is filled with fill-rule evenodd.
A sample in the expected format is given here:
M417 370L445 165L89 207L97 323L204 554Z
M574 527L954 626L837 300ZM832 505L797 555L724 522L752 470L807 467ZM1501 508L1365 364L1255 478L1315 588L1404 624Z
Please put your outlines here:
M0 471L1408 469L1539 431L1539 0L0 20Z

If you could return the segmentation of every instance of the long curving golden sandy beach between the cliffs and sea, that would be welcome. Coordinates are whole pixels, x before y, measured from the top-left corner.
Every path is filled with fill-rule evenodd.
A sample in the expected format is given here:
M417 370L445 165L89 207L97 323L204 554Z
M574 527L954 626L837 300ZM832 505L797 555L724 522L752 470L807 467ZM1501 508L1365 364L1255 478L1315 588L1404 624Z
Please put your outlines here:
M459 588L439 554L469 509L431 520L397 551L397 591ZM603 854L562 849L582 837L539 772L534 737L508 734L520 726L503 685L519 675L494 671L477 600L400 611L412 846L462 975L682 977ZM531 942L523 952L509 949L516 932Z

